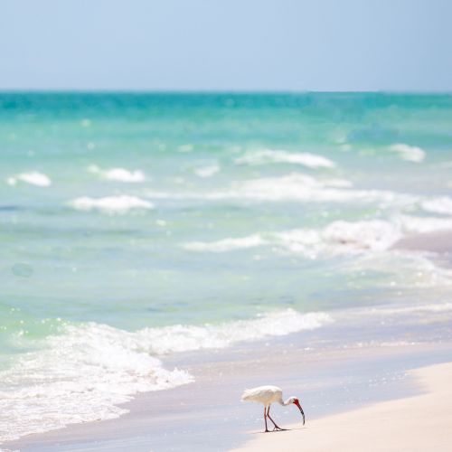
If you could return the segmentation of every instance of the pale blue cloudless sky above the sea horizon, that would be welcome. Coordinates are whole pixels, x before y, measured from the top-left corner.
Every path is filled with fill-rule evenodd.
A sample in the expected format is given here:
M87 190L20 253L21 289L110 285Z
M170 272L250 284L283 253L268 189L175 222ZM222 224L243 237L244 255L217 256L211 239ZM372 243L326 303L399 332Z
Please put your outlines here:
M0 0L0 89L452 91L449 0Z

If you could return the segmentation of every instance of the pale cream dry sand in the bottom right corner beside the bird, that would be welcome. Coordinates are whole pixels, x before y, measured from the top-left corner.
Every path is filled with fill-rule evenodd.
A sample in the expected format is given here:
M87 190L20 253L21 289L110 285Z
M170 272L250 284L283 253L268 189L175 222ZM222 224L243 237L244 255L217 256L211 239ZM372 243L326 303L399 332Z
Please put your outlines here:
M256 434L236 451L452 450L452 363L410 373L425 391L422 395L313 420L305 428Z

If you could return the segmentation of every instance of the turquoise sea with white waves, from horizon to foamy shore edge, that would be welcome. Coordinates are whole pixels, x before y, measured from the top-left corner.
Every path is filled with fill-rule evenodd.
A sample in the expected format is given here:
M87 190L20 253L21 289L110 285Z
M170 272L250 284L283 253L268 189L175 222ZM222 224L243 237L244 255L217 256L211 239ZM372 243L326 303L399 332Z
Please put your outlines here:
M392 248L451 192L452 95L0 94L0 440L193 381L169 353L451 315Z

